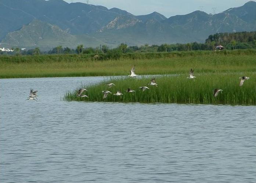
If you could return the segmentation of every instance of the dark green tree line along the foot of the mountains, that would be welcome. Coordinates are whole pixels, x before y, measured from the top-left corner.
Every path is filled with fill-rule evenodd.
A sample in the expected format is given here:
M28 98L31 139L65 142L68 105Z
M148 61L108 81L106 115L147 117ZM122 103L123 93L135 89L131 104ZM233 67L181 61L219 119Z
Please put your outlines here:
M256 31L238 32L238 33L216 33L210 35L205 43L191 42L187 44L162 44L162 45L141 45L128 46L125 43L117 48L109 49L107 45L100 45L96 48L84 48L84 45L77 45L75 49L63 48L61 45L50 51L40 51L37 47L21 51L19 48L11 48L13 52L1 52L8 55L40 55L40 54L91 54L101 55L104 59L118 59L123 53L141 53L141 52L173 52L173 51L198 51L215 50L215 46L222 45L225 49L256 49ZM96 57L95 57L96 58Z

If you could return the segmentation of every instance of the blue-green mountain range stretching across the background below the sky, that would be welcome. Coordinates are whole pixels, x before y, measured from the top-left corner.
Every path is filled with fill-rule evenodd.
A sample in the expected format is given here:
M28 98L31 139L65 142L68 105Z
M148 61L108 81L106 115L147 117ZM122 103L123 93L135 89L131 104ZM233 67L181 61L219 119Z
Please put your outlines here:
M170 18L63 0L0 0L0 12L2 47L175 44L204 42L218 32L256 30L255 1L214 15L194 11Z

